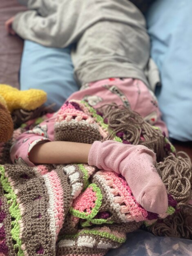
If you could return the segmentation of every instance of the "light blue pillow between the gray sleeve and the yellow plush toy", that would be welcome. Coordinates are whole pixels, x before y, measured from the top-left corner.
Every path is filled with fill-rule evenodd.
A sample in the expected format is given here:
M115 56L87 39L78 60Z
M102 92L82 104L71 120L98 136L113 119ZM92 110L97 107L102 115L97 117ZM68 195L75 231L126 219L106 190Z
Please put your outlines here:
M51 48L25 40L20 66L20 89L42 89L47 92L46 106L56 103L58 110L64 101L79 90L74 79L71 47Z

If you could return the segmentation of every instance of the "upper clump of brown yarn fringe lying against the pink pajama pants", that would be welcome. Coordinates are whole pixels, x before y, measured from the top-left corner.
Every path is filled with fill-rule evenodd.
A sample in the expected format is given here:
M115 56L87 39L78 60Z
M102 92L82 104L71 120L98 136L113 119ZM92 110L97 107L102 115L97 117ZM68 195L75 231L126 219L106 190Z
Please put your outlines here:
M116 104L104 105L98 108L103 113L103 119L113 132L105 137L112 139L115 134L123 132L123 140L132 145L144 145L156 153L157 162L168 156L165 150L165 136L157 127L151 126L136 112Z

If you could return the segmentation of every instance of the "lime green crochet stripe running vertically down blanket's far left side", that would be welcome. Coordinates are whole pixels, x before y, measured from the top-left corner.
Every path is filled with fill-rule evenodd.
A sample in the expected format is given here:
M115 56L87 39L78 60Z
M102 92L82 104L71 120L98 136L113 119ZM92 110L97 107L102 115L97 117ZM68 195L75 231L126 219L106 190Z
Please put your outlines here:
M6 193L4 193L4 196L7 198L7 204L10 204L9 212L11 215L11 218L14 220L11 221L11 236L12 239L16 242L13 246L14 249L18 249L18 256L24 256L24 253L21 249L21 239L19 238L20 234L20 227L19 227L19 220L21 220L21 214L17 203L17 196L13 192L13 189L10 186L10 183L8 179L5 177L5 170L3 166L0 166L0 182L1 185Z

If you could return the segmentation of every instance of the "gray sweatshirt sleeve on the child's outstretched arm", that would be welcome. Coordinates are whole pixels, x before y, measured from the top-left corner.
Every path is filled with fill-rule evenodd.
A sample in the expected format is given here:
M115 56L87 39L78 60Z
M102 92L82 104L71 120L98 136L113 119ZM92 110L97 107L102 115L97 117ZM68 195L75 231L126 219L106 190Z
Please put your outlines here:
M47 47L67 47L93 20L90 11L86 12L86 2L28 0L28 10L15 16L12 27L25 40Z

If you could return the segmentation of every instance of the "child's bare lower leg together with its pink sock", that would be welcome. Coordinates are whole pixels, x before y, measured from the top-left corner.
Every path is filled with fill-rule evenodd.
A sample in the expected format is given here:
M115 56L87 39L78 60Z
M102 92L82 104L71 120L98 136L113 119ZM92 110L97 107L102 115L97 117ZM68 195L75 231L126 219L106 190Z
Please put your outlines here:
M165 213L167 192L154 164L155 153L141 145L124 145L116 141L83 144L50 141L37 144L29 153L35 164L88 163L106 171L121 173L137 202L147 211Z

